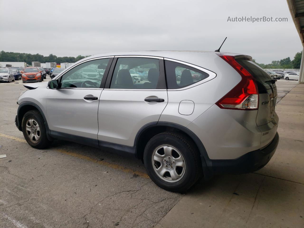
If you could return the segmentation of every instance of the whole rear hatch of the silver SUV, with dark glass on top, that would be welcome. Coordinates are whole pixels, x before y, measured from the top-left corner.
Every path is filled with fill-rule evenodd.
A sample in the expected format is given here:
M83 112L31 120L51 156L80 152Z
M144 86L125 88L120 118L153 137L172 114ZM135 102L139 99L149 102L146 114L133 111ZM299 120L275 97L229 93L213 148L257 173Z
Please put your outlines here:
M257 82L259 108L256 123L262 132L261 144L267 145L275 137L278 128L278 115L275 112L278 92L275 80L251 59L244 56L235 56L235 59L249 71Z

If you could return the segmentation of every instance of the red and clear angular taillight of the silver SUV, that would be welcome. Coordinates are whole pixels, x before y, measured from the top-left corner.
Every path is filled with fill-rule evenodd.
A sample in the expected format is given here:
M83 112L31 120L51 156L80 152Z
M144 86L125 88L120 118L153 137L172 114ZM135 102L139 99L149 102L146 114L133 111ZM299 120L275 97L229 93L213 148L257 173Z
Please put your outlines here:
M216 102L216 105L221 109L258 109L259 93L253 76L235 60L234 56L222 54L218 54L218 56L232 66L241 75L242 80Z

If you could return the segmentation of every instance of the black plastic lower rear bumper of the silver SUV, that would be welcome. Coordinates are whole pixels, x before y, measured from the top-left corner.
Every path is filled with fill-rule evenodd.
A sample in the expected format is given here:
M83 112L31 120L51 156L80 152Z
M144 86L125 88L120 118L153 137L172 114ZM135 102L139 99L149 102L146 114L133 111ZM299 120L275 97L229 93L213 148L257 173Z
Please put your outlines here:
M243 174L257 171L269 162L278 143L279 135L276 133L274 139L264 149L251 151L236 159L209 160L208 170L213 174Z

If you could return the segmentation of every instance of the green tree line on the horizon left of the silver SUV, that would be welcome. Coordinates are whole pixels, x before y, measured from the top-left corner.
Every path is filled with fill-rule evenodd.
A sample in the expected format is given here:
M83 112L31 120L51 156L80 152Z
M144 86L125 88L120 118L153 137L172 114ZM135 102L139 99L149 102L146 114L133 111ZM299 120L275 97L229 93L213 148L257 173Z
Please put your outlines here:
M57 57L56 55L50 54L49 56L43 56L40 54L28 54L28 53L18 53L18 52L0 52L0 62L26 62L31 64L32 62L56 62L56 63L75 63L87 56L78 55L77 57Z

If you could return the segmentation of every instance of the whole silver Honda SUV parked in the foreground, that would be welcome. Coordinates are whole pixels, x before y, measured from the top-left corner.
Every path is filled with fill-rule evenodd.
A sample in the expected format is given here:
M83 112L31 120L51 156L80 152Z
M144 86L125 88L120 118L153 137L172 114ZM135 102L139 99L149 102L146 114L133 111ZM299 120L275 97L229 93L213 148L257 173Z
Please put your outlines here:
M48 84L25 85L16 126L34 148L60 139L135 156L158 186L184 192L201 176L256 171L275 153L275 80L251 60L202 51L90 56ZM99 76L83 77L92 69ZM147 79L134 83L133 70Z

